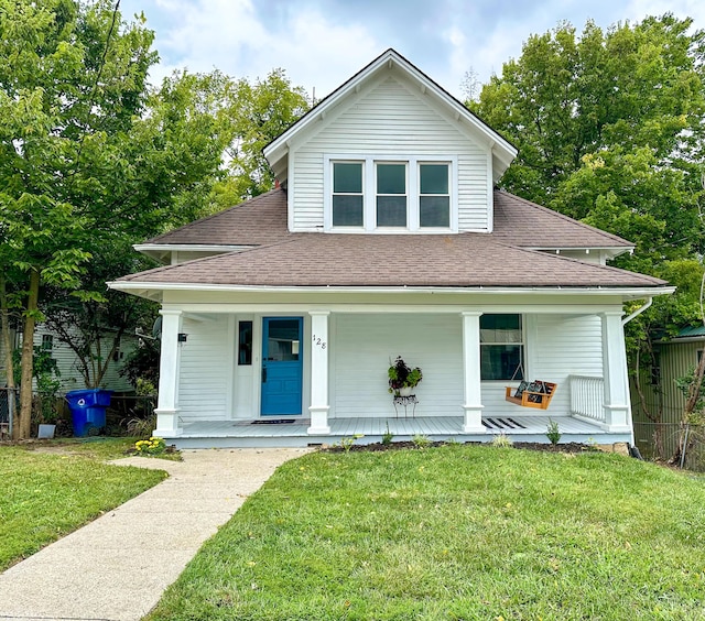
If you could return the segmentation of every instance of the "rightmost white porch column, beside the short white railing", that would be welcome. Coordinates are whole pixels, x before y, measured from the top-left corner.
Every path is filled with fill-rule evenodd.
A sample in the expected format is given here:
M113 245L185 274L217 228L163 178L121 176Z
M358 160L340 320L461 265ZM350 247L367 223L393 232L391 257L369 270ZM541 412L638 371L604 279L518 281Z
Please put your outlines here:
M605 424L610 432L631 431L631 405L627 377L627 350L621 310L601 313Z

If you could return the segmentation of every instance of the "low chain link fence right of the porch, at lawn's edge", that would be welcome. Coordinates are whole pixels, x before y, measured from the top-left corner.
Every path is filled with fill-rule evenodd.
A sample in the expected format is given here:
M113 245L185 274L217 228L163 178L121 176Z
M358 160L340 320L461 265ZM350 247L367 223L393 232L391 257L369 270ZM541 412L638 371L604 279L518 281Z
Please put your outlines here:
M634 443L646 459L705 472L705 425L634 421Z

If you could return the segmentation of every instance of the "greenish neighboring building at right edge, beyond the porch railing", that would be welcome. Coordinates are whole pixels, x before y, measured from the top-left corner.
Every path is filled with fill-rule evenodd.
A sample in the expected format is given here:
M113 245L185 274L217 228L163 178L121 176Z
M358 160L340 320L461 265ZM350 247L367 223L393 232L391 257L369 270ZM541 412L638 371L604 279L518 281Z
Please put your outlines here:
M641 373L640 386L632 385L631 391L636 440L644 453L652 453L655 426L650 416L657 415L664 425L660 438L662 451L665 457L674 454L686 401L676 380L693 371L704 350L705 326L687 326L675 337L654 344L654 363Z

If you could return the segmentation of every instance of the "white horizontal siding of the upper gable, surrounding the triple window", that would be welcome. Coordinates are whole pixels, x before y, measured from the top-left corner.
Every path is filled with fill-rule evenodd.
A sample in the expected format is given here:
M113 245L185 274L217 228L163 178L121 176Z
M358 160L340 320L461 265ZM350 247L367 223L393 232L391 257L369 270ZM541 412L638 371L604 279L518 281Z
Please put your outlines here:
M457 156L459 229L488 227L487 151L405 80L389 76L373 84L341 112L332 111L321 129L293 151L290 176L297 231L323 229L326 153Z

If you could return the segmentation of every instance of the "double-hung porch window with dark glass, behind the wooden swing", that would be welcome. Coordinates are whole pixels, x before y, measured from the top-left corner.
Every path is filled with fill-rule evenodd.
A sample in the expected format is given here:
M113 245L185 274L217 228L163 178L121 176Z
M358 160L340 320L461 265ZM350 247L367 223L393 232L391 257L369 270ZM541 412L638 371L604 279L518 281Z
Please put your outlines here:
M523 380L523 359L521 315L481 315L480 378Z

